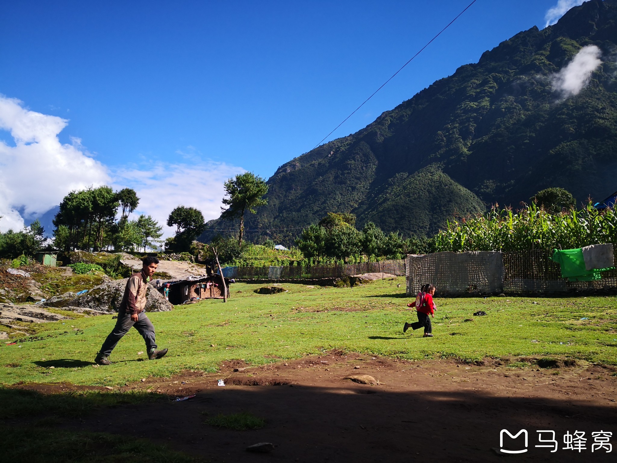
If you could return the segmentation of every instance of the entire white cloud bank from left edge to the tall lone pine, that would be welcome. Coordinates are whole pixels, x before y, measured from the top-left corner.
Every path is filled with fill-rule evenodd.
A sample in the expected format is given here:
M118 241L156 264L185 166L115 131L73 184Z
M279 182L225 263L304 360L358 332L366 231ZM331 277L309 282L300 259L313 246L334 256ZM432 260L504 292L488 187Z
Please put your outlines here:
M173 234L167 217L180 204L196 207L205 220L216 219L225 195L223 183L244 172L220 162L202 161L193 147L176 152L179 162L142 162L110 169L91 157L81 140L62 144L58 134L68 121L30 111L17 99L0 94L0 130L10 131L15 146L0 140L0 231L20 230L23 217L35 217L60 204L72 190L112 185L133 188L136 214L152 215ZM21 212L21 214L20 214Z

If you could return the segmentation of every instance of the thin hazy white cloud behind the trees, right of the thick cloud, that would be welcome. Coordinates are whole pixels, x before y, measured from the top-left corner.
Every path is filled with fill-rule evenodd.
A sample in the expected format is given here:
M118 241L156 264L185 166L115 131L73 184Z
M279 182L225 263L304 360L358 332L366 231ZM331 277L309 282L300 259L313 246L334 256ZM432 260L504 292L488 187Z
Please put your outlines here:
M175 228L167 227L167 217L176 206L196 207L206 222L221 215L225 190L223 183L237 173L245 172L220 162L193 159L188 164L139 165L115 171L117 188L128 186L137 192L136 214L152 215L164 227L164 236L172 236Z

